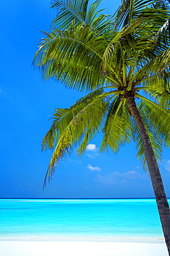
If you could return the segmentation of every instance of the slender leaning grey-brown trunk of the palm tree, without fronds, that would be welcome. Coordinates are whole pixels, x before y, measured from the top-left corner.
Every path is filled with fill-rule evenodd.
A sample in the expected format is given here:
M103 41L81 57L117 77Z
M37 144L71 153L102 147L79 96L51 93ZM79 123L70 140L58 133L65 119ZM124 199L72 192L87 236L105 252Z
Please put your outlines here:
M170 255L170 210L169 204L167 202L167 197L164 192L164 185L162 183L162 178L160 176L160 170L158 163L156 161L155 154L151 147L151 141L145 129L145 125L142 121L140 113L136 107L136 102L134 96L126 97L127 105L131 111L131 116L134 118L136 125L140 131L140 136L142 137L142 145L145 152L145 157L147 159L147 165L149 169L149 174L151 176L151 182L153 185L153 190L156 196L156 203L158 205L158 212L160 214L160 221L162 224L162 230L164 232L164 239L167 244L167 249Z

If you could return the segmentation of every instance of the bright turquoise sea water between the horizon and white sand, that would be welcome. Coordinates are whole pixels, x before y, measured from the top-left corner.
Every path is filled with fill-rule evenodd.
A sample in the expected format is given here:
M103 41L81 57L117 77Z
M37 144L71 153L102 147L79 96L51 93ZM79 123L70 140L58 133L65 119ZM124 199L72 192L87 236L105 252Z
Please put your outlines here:
M155 199L0 199L0 240L163 239Z

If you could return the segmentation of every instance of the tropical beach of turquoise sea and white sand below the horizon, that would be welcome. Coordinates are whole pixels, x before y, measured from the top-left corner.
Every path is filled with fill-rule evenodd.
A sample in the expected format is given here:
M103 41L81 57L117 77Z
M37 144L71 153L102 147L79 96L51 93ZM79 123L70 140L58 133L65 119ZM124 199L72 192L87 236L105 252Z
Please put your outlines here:
M3 256L168 255L154 199L1 199L0 205Z

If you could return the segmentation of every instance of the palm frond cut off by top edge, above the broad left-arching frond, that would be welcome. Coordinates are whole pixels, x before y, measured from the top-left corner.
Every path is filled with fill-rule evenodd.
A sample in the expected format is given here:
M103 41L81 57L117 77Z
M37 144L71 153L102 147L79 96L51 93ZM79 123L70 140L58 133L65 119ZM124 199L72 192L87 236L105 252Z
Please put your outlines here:
M56 19L52 21L52 27L65 30L74 21L75 26L88 24L92 30L102 33L106 26L110 26L113 17L100 14L102 10L97 10L100 1L89 5L89 0L53 0L51 8L56 9Z

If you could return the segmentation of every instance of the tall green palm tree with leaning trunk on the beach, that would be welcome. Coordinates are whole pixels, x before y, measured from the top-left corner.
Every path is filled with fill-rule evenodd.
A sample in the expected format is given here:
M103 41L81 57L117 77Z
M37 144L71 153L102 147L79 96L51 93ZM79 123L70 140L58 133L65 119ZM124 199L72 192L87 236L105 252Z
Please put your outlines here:
M151 176L170 255L170 212L157 163L170 145L167 8L160 1L124 0L112 17L98 11L100 1L88 3L52 1L57 16L34 57L43 79L87 92L69 109L55 109L42 143L54 149L45 181L63 156L75 146L83 154L100 131L101 152L108 146L118 152L134 140Z

